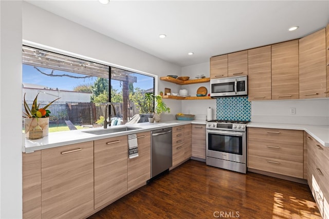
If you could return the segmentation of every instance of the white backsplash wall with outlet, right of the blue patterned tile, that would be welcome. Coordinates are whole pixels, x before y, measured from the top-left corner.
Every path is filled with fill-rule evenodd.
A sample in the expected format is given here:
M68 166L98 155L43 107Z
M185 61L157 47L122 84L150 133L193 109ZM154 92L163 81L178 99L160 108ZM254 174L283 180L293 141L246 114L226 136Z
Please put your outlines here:
M296 108L296 115L290 108ZM253 101L251 121L329 125L329 99Z

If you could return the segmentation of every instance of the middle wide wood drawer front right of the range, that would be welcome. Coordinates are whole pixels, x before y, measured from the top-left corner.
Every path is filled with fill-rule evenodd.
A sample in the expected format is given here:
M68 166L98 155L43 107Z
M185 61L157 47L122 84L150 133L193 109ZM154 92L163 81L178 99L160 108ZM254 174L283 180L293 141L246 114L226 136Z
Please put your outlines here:
M303 146L248 141L248 154L303 162Z

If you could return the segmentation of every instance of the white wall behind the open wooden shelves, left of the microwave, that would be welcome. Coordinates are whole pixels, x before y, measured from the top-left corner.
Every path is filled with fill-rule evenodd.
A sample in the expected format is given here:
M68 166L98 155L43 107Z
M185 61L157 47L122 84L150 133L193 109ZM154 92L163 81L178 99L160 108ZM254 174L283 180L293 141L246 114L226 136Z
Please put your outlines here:
M210 62L205 62L196 65L185 66L181 68L181 76L189 76L190 79L196 79L196 75L205 75L210 77ZM187 89L189 95L196 96L196 91L199 87L206 87L208 94L210 92L210 83L189 84L181 86L181 89ZM178 90L175 90L178 92ZM216 100L183 100L181 101L181 113L193 114L195 119L206 119L207 108L211 107L213 110L213 119L216 118Z

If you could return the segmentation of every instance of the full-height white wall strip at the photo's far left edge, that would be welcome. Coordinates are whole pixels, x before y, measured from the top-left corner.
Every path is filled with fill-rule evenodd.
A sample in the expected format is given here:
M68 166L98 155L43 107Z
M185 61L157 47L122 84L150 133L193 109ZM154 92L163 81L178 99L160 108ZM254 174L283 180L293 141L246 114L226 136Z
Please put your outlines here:
M0 218L22 218L22 2L0 17Z

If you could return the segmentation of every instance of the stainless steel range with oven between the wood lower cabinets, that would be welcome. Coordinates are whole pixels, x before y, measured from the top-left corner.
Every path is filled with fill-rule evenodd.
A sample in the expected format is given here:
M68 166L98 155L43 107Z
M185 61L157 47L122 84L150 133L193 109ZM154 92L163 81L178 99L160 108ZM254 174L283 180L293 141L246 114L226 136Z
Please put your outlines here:
M247 170L247 121L211 120L206 125L206 163L240 173Z

